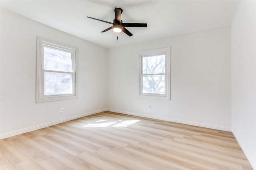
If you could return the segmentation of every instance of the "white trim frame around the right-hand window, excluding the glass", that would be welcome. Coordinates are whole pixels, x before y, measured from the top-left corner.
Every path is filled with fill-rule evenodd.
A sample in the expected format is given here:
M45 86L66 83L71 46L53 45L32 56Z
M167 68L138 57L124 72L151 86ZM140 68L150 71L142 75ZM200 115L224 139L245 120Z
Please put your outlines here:
M166 76L165 76L165 94L146 94L142 93L142 57L152 55L166 55ZM138 51L138 98L155 99L155 100L171 100L171 47L160 49Z

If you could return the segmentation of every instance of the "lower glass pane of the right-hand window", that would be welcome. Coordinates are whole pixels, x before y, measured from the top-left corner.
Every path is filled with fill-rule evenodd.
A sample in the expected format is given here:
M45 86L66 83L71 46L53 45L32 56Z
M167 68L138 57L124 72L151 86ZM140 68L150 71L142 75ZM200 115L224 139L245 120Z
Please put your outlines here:
M142 93L165 94L164 75L142 76Z

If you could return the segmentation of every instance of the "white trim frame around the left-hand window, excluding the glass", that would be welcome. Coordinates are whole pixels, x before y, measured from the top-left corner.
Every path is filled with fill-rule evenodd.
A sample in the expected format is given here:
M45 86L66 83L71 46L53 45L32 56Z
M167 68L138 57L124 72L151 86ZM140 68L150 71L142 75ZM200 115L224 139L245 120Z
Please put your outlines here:
M73 68L72 82L73 93L72 94L58 94L58 95L45 95L44 96L44 46L53 47L55 49L61 49L64 51L73 53ZM76 99L77 96L77 78L76 78L76 51L75 47L58 43L49 39L37 37L37 60L36 60L36 103L41 102L53 102L58 100L70 100ZM70 73L70 72L64 72Z

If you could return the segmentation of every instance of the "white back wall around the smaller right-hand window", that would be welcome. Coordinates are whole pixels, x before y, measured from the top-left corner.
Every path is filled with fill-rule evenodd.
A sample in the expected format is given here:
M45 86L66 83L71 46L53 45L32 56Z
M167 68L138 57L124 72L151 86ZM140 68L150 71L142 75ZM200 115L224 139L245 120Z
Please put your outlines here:
M230 131L230 38L225 27L109 49L109 110ZM138 98L137 52L161 47L171 47L171 101Z

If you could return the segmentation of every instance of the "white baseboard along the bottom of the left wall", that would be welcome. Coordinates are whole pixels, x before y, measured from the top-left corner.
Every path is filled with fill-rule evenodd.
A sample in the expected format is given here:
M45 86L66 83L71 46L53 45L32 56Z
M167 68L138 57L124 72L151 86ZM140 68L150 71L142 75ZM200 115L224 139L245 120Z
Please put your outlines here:
M27 133L27 132L30 132L30 131L35 131L35 130L38 130L38 129L42 129L44 127L49 127L49 126L56 125L56 124L59 124L59 123L63 123L63 122L66 122L66 121L78 119L80 117L92 115L92 114L95 114L95 113L100 113L102 111L106 111L106 109L99 109L99 110L96 110L96 111L90 111L90 112L83 113L83 114L80 114L80 115L67 117L67 118L60 119L60 120L57 120L57 121L52 121L52 122L49 122L49 123L44 123L42 125L37 125L37 126L21 129L21 130L18 130L18 131L13 131L13 132L9 132L9 133L0 134L0 139L4 139L4 138L7 138L7 137L12 137L12 136L15 136L15 135L20 135L22 133Z

